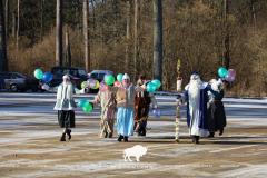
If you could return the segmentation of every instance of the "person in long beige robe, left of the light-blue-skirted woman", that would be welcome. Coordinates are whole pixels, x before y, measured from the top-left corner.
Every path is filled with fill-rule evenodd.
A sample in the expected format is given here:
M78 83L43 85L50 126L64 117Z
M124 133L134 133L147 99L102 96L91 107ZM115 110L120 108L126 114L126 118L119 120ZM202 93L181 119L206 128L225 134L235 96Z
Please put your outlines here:
M108 86L103 81L99 86L98 95L91 102L92 108L97 108L100 103L100 137L112 138L113 135L113 117L116 111L116 93L108 91Z

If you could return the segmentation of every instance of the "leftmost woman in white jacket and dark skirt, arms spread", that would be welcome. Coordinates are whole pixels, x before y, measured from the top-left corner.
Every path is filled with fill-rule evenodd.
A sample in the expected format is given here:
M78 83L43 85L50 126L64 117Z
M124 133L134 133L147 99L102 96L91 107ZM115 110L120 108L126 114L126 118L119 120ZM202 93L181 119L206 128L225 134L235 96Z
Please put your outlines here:
M57 92L57 102L55 110L58 110L58 123L63 128L63 134L60 141L66 141L66 134L68 139L71 139L71 130L69 128L75 128L75 110L77 109L76 102L73 100L73 92L77 95L86 93L86 88L79 90L70 81L70 77L65 75L62 77L63 82L58 87L49 87L43 83L42 89L50 92Z

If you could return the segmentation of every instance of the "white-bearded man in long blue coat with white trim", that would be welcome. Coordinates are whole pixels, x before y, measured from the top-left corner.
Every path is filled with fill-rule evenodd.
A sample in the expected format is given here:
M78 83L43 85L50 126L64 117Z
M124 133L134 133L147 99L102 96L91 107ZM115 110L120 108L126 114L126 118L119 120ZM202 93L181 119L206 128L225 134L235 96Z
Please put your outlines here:
M187 102L187 125L192 142L199 144L199 137L208 136L208 91L218 90L218 86L224 81L209 85L200 79L197 72L190 77L190 82L185 87L185 92L177 96L177 102Z

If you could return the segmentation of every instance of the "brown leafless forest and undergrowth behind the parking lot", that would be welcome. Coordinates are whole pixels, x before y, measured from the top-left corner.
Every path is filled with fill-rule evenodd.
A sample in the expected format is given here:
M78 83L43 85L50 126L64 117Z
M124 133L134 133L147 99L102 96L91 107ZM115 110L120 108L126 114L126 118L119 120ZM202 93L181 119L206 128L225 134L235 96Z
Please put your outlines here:
M267 1L229 0L227 11L225 2L162 0L164 90L176 90L177 60L180 59L182 86L188 83L195 71L204 81L209 81L218 79L218 69L226 67L236 70L236 79L226 83L226 95L267 96ZM36 69L50 72L56 65L57 0L20 0L18 50L18 0L9 0L9 71L28 77L33 77ZM85 69L82 8L82 0L63 0L63 47L68 31L71 66ZM128 72L134 83L138 73L152 78L152 0L140 0L138 8L136 14L136 0L89 0L90 69L87 72ZM62 56L63 65L67 65L65 49Z

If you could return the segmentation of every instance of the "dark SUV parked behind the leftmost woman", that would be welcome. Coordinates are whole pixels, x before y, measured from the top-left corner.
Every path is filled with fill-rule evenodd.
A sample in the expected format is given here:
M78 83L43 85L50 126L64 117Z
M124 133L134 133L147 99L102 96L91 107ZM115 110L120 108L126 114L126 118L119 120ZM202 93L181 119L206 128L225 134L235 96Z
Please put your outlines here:
M70 76L70 81L78 89L81 89L82 81L87 81L89 79L89 77L86 73L86 70L77 67L55 66L51 69L51 73L53 75L53 78L50 81L51 87L59 86L62 82L63 75L66 73Z

